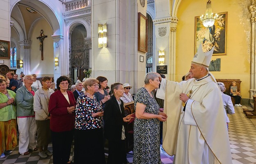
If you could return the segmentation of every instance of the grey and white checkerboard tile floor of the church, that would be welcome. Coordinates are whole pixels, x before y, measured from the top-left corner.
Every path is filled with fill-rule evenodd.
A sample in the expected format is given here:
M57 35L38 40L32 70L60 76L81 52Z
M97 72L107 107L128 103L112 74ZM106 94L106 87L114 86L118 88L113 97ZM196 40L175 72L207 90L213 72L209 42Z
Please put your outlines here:
M244 107L244 106L243 106ZM229 114L229 140L233 164L256 164L256 127L243 113L242 107L235 107L235 114ZM48 150L52 150L49 144ZM162 164L172 164L173 157L162 150ZM29 155L19 155L18 146L11 155L0 159L0 164L53 164L53 156L41 158L37 151L31 151ZM133 152L127 154L129 163L133 162ZM70 159L73 160L73 148ZM106 155L107 158L107 155Z

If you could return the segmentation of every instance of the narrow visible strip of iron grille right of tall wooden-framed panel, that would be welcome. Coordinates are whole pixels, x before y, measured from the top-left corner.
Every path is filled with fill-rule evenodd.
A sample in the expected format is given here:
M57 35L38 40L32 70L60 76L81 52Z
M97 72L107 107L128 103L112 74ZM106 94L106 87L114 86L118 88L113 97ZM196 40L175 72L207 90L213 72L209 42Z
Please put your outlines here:
M148 52L146 53L146 73L153 71L153 21L149 14L148 18Z

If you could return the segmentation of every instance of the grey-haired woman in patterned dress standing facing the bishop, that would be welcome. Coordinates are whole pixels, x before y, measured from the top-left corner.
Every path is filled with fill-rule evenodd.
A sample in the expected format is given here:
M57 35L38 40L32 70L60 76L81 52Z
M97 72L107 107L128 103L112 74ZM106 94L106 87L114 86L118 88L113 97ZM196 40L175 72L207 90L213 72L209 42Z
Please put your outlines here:
M158 89L159 79L155 73L147 73L145 85L137 91L134 99L134 164L161 164L160 159L160 121L167 115L159 112L153 90Z

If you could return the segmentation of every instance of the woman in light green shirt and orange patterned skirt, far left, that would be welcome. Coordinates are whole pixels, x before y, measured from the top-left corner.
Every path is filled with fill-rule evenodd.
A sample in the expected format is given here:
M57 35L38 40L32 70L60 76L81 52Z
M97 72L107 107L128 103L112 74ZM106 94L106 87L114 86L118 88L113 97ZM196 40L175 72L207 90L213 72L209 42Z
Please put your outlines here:
M0 79L0 158L6 153L12 153L17 146L16 107L14 98L16 93L6 89L7 82Z

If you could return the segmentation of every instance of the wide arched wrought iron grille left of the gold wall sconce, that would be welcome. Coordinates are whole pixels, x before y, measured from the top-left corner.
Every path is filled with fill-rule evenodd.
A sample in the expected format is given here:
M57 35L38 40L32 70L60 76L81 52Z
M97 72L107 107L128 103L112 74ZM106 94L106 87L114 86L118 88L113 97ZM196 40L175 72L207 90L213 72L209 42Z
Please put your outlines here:
M75 25L69 35L69 77L72 84L85 78L84 70L89 69L91 39L85 40L87 32L82 24Z

